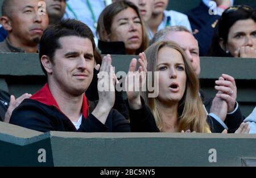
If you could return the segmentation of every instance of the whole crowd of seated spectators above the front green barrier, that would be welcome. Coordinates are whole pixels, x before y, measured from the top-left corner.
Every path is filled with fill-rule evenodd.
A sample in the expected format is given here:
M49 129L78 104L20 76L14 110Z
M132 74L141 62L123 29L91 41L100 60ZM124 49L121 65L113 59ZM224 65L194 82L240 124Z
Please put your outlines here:
M183 14L168 0L4 0L0 52L38 53L47 83L17 99L0 90L0 120L40 132L256 133L236 79L220 74L213 98L200 89L201 56L256 58L256 10L234 1ZM111 54L138 59L117 78Z

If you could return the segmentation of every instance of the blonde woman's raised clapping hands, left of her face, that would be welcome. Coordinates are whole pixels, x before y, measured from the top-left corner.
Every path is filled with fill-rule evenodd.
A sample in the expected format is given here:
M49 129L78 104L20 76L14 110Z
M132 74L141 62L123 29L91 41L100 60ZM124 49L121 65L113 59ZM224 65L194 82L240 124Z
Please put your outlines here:
M147 75L147 60L146 54L139 54L139 68L135 71L137 66L137 60L133 58L130 62L129 73L126 76L125 84L127 85L126 94L131 109L140 109L141 103L141 90L146 84ZM130 82L129 82L130 81ZM135 83L139 81L139 83Z

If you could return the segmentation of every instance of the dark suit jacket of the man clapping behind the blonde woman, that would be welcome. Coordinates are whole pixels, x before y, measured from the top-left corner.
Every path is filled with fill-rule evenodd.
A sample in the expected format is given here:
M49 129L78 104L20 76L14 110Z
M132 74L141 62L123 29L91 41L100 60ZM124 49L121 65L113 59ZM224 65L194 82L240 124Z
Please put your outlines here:
M213 98L210 98L202 90L200 90L200 96L201 96L201 100L203 101L203 104L204 104L205 108L207 109L207 112L210 113L210 107L212 106ZM236 132L236 130L239 128L239 126L240 126L240 124L242 123L243 120L244 120L244 117L242 116L240 107L238 106L237 111L234 112L231 115L227 115L226 119L224 121L226 126L228 126L228 128L229 128L228 133ZM220 124L220 122L218 122L214 118L212 118L211 121L208 119L208 124L209 124L210 128L212 128L211 130L213 130L214 133L221 133L225 129Z

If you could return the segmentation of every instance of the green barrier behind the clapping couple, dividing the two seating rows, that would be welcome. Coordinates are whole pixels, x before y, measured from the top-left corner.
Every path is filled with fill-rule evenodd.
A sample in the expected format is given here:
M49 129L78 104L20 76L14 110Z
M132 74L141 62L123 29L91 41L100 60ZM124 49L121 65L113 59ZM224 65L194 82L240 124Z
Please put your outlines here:
M127 71L135 56L112 56L115 72ZM237 100L243 115L247 116L256 105L256 59L201 57L201 88L211 96L216 94L214 80L222 73L232 75L238 88ZM0 88L20 96L24 92L34 94L46 77L40 67L38 54L0 54Z

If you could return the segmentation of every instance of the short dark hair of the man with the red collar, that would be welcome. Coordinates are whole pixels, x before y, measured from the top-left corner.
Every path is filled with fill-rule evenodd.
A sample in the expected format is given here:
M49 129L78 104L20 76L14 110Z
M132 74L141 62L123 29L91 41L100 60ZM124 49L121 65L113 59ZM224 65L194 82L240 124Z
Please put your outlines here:
M53 57L55 55L55 52L57 49L61 48L59 39L65 36L78 36L89 39L90 41L92 41L93 53L95 53L96 45L94 42L93 33L90 28L86 26L86 24L78 20L65 19L61 20L61 22L56 24L55 26L48 27L44 31L43 36L41 37L39 42L39 58L41 59L43 55L46 55L49 57L49 60L54 63ZM73 43L76 43L76 41L74 41ZM47 72L44 69L42 63L41 67L44 71L44 74L47 75Z

